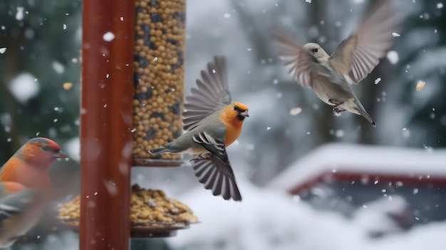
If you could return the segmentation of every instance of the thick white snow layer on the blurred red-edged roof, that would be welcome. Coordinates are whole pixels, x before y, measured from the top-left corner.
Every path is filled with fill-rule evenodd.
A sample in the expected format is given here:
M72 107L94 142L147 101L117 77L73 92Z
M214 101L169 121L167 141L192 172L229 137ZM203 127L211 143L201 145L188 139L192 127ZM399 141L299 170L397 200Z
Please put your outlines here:
M339 143L323 145L291 164L268 186L296 189L327 173L440 178L446 181L446 150Z

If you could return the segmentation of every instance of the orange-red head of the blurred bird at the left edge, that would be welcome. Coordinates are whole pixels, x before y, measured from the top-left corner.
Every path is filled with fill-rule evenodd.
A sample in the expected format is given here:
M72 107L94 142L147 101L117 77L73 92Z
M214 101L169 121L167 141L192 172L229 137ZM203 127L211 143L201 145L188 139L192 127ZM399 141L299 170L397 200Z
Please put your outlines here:
M49 167L56 159L67 157L56 142L43 137L28 140L16 154L26 163L41 167Z

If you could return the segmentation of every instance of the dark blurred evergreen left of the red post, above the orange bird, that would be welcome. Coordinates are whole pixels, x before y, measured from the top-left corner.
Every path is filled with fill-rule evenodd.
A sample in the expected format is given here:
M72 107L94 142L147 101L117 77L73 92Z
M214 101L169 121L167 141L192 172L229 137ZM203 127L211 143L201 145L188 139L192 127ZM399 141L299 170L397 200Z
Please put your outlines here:
M0 162L36 135L60 144L78 136L81 0L0 1L0 48ZM9 91L21 73L40 87L25 103Z

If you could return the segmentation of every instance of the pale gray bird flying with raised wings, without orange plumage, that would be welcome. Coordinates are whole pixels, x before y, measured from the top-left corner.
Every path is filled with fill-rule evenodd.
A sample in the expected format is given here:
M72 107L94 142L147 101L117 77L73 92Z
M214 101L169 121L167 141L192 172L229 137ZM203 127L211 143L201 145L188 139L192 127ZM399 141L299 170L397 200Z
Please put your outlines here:
M333 115L347 110L363 115L376 127L351 85L358 84L373 71L393 45L400 16L391 1L377 0L372 4L358 30L343 40L331 56L317 43L301 46L280 29L276 28L273 36L283 49L280 58L286 61L289 74L300 85L312 88L324 103L332 105Z

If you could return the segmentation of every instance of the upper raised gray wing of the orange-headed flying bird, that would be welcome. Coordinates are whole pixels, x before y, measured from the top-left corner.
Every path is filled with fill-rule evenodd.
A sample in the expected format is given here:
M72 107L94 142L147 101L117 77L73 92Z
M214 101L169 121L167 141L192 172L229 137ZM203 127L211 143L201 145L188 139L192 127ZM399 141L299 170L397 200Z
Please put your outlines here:
M207 63L207 71L201 71L201 75L202 80L197 79L197 88L192 88L192 95L186 97L183 113L185 130L231 104L224 56L214 56L214 61Z

